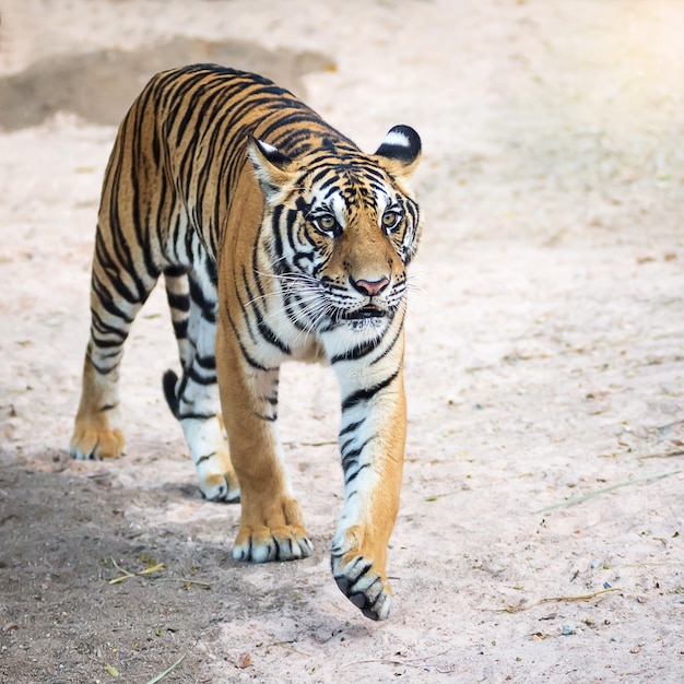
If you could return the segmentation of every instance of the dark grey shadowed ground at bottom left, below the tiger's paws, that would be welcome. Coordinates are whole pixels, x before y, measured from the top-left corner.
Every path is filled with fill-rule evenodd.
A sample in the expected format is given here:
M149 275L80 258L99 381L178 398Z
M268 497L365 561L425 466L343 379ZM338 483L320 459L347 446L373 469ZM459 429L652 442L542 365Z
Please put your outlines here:
M132 510L197 492L120 488L107 471L70 472L64 452L39 463L46 471L0 451L0 681L20 671L25 682L104 681L115 668L145 682L182 654L185 674L209 681L198 644L213 642L222 627L255 610L273 620L311 611L292 599L302 582L296 564L238 564L227 539L196 541L191 524L135 523ZM111 582L126 571L134 575ZM278 587L264 592L271 573Z

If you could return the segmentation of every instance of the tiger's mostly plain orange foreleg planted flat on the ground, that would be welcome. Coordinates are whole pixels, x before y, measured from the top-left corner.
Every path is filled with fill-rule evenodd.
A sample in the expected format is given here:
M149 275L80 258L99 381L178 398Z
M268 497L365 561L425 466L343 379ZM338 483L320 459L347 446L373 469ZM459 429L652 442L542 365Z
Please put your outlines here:
M221 311L227 318L227 312ZM223 323L223 325L221 325ZM222 320L216 364L231 457L240 485L236 561L293 561L311 554L276 428L279 368L245 354L233 323Z

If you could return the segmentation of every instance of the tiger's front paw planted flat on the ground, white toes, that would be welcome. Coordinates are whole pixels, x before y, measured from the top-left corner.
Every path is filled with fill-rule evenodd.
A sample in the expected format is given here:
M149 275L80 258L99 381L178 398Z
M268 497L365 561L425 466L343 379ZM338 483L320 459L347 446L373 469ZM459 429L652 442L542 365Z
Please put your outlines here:
M297 561L310 556L312 551L314 544L300 524L244 527L235 540L233 557L252 563Z

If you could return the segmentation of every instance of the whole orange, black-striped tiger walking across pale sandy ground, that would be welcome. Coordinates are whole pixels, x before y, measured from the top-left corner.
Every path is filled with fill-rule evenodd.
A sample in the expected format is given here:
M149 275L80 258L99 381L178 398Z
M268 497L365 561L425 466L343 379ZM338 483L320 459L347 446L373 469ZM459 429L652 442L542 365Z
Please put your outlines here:
M365 154L255 73L192 64L154 75L105 170L69 446L81 460L123 453L123 345L163 274L181 367L163 389L201 494L239 500L236 561L305 558L314 546L279 436L279 374L285 361L328 364L344 476L331 569L372 620L388 617L392 594L420 157L413 128L394 126Z

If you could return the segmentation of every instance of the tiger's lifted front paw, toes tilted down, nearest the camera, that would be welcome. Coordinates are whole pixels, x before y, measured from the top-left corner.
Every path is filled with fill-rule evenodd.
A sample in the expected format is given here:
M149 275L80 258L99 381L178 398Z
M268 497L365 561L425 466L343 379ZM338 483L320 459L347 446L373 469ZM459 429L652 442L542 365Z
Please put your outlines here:
M333 547L332 575L340 591L370 620L387 620L392 589L385 573L368 557Z

